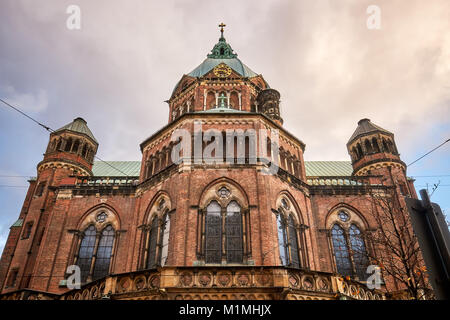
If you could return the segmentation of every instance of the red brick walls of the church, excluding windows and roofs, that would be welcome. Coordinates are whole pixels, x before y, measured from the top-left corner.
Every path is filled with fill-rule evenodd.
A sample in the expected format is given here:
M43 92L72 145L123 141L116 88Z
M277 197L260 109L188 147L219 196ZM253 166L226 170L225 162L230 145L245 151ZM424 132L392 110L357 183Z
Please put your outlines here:
M399 194L406 192L405 195L416 197L413 184L405 176L406 166L396 149L372 150L371 154L366 152L361 157L354 153L358 141L365 136L372 139L370 132L348 145L355 175L341 178L355 184L315 183L320 177L307 177L303 159L305 145L281 126L278 105L266 98L258 100L266 90L268 87L262 76L248 78L234 70L227 78L218 78L213 71L200 78L183 76L168 101L168 125L141 144L140 175L122 177L125 182L95 182L97 178L113 177L93 177L93 154L98 144L92 137L76 130L53 133L44 159L38 165L37 179L30 182L19 216L21 223L11 228L3 251L1 293L21 289L66 292L68 289L60 285L61 280L66 278L67 267L76 263L87 226L98 227L97 232L104 227L94 221L101 211L108 213L115 234L108 274L145 269L147 254L150 254L145 250L150 241L147 232L153 217L159 217L160 221L163 217L163 213L155 209L161 199L165 199L170 215L165 262L168 267L208 265L204 258L204 214L212 199L224 204L234 199L242 210L244 248L240 265L282 265L277 214L284 211L279 208L282 207L280 201L285 199L283 201L288 201L290 206L286 211L292 213L297 230L300 267L337 273L330 241L330 226L336 219L336 212L347 210L351 221L363 232L377 228L369 214L373 204L368 189L358 183L382 181L386 188L395 187ZM215 98L220 97L215 93L222 91L231 112L214 110L218 107ZM214 99L208 98L210 92ZM176 142L171 141L171 137L174 130L181 128L193 133L195 121L202 121L203 132L211 128L220 132L227 129L279 130L280 169L274 175L266 175L262 172L265 167L262 162L252 164L248 159L245 164L173 163L171 153ZM70 137L80 140L75 150L73 146L70 150L64 148ZM60 147L55 143L58 138L63 138ZM395 146L393 136L391 139ZM88 147L83 151L84 145ZM45 185L39 195L36 191L41 183ZM400 184L406 189L400 189ZM228 198L218 195L221 187L231 193ZM21 239L30 222L30 236ZM157 252L162 254L162 244L159 245ZM366 245L367 250L371 250L370 244ZM17 274L13 274L16 271ZM11 277L16 280L12 281Z

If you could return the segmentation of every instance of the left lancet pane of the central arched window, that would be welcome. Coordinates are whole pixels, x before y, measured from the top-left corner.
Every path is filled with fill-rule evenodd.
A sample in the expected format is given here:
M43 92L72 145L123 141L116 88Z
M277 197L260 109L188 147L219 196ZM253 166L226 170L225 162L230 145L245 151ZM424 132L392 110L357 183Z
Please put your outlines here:
M205 225L205 261L206 263L222 262L222 217L217 201L211 201L206 207Z

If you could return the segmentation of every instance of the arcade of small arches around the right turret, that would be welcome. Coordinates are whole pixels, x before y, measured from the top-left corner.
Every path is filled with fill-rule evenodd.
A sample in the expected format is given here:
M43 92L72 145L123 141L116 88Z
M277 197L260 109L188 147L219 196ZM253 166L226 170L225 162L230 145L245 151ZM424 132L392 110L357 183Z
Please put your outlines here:
M362 159L366 155L375 153L391 153L398 155L397 147L390 137L373 136L359 140L351 147L350 156L353 162Z

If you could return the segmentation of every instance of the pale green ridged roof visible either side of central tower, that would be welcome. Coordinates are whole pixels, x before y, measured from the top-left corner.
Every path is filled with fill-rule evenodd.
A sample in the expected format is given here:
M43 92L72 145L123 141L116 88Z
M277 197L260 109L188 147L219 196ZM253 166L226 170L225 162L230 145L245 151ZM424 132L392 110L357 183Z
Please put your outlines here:
M141 170L140 161L94 161L92 172L97 177L138 177ZM114 167L114 168L113 168ZM117 169L115 169L117 168ZM309 177L348 177L353 168L350 161L305 161L306 175ZM120 170L120 171L119 171Z

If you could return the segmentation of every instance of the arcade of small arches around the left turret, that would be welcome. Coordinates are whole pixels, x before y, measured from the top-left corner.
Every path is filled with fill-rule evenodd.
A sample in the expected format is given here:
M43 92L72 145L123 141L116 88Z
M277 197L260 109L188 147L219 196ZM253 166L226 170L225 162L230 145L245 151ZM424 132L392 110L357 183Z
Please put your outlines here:
M53 138L48 144L47 153L52 152L70 152L79 155L92 162L95 156L95 148L91 143L79 138L59 136Z

